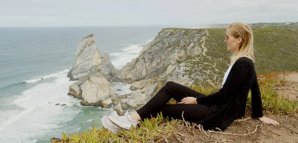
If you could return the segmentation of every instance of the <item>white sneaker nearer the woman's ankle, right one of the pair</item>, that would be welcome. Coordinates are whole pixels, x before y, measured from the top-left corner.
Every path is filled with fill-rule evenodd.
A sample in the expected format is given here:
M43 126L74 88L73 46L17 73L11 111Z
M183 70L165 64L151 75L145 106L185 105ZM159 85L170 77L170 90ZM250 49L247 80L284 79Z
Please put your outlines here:
M126 112L124 116L118 116L118 117L109 116L108 119L118 128L129 130L132 125L137 126L140 123L140 121L131 120L128 117L129 115L130 115L129 112Z

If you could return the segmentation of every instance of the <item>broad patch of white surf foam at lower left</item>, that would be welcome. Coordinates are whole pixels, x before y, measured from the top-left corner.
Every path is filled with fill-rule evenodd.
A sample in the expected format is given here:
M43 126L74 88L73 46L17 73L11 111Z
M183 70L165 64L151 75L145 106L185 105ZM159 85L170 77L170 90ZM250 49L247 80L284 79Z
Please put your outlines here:
M68 86L75 81L69 81L65 72L67 71L50 74L51 77L57 77L56 80L37 84L21 95L12 97L13 104L23 110L6 114L9 117L0 120L1 142L36 141L35 138L47 135L47 132L59 128L61 126L59 123L70 121L74 115L81 112L79 108L74 109L74 106L55 105L55 103L74 105L80 102L67 96ZM3 110L1 114L5 115L8 112L10 110Z

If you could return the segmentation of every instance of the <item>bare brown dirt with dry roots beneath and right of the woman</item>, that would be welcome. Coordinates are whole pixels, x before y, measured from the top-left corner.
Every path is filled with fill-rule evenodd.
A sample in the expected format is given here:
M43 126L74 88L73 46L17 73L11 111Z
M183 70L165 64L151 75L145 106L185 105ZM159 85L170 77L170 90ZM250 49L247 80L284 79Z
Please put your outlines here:
M286 85L275 90L286 98L298 100L298 72L280 74ZM271 114L266 111L264 116L276 120L280 125L267 125L251 118L251 110L247 109L243 119L235 120L225 131L213 132L180 127L180 131L171 134L161 143L298 143L298 114L285 115L282 112ZM179 127L178 127L179 128ZM224 135L225 134L225 135ZM246 135L245 135L246 134Z

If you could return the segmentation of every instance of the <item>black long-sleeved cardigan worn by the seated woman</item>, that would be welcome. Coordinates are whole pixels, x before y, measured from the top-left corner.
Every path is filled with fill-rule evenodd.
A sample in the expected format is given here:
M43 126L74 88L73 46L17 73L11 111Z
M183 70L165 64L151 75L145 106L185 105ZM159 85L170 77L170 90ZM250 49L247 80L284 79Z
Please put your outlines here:
M197 98L198 104L210 106L206 117L196 122L204 129L225 130L235 119L244 117L247 95L251 90L252 117L263 117L261 92L252 60L241 57L232 66L224 86L208 96Z

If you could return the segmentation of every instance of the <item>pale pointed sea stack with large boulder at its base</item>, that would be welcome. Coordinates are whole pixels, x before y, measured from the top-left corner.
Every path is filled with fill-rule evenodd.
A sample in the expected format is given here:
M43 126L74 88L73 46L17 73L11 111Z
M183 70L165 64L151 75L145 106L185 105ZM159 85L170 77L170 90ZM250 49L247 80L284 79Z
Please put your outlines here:
M109 54L98 51L94 35L88 35L79 42L74 66L68 73L70 80L78 80L69 86L69 95L82 99L84 106L111 107L116 99L108 80L118 71Z

